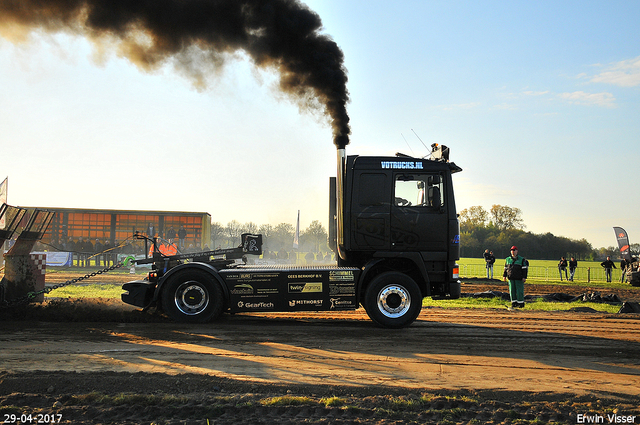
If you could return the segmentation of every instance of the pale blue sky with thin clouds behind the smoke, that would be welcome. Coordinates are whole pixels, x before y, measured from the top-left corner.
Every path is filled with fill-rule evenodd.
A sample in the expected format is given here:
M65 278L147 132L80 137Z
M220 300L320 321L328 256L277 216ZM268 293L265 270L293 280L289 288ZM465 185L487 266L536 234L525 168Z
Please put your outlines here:
M424 156L415 131L464 169L459 210L517 207L526 230L596 248L615 245L613 226L640 242L640 2L306 3L345 55L349 154ZM303 228L326 225L331 130L243 55L196 90L170 64L145 73L84 38L14 41L0 37L10 204L222 224L301 210Z

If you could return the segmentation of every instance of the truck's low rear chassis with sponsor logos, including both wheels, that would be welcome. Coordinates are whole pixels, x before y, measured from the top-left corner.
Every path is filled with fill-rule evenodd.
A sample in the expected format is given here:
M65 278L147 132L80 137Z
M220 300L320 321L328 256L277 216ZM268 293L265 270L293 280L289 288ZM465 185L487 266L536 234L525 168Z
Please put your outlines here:
M125 283L122 300L191 323L224 312L338 311L362 304L377 325L401 328L420 313L420 288L406 274L382 271L364 282L356 267L247 265L246 255L262 253L262 237L242 239L238 248L173 256L154 251L152 258L136 260L152 263L152 271L144 280Z

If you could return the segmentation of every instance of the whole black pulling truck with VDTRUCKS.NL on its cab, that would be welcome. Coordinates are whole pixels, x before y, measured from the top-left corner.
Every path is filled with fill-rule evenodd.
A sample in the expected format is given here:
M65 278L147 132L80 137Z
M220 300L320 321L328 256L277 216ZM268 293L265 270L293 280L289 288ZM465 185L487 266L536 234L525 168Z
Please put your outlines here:
M429 159L346 156L338 149L329 202L336 265L246 264L247 255L261 255L262 236L244 234L238 248L170 256L156 250L137 260L152 263L152 271L124 284L122 300L197 323L224 312L362 305L379 326L409 326L424 297L460 296L460 226L451 178L459 171L445 146L433 145Z

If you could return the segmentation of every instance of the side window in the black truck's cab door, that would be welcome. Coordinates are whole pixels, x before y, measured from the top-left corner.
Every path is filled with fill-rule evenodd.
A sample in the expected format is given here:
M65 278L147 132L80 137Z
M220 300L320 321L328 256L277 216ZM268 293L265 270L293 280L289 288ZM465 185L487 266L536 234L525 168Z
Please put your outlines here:
M394 205L431 207L444 205L442 177L439 174L398 174L395 179Z

